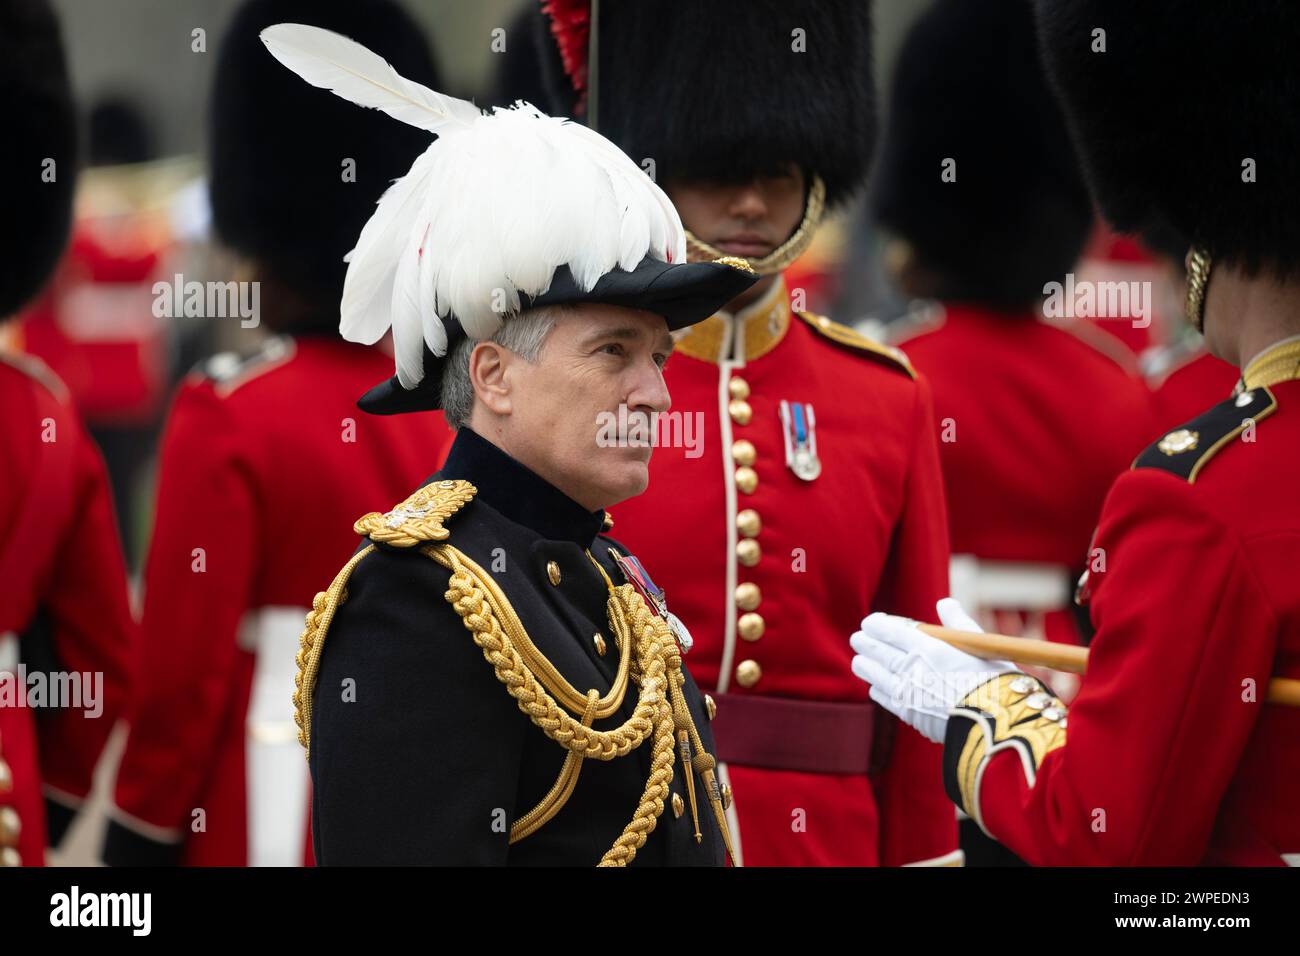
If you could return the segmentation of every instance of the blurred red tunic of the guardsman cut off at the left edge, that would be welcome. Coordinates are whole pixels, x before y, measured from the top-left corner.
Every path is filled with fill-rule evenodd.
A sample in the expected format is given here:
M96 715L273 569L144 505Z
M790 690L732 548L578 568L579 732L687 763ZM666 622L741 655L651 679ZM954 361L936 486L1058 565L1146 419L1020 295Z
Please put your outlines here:
M47 809L57 843L125 706L135 623L99 450L39 359L0 358L0 862L39 865ZM38 714L21 691L53 687L51 659L82 700Z

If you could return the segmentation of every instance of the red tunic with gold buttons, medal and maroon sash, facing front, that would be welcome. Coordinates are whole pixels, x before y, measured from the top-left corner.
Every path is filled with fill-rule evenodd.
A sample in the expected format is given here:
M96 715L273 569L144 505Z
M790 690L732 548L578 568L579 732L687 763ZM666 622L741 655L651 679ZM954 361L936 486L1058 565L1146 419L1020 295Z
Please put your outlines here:
M694 438L685 446L655 450L649 490L611 510L612 533L653 568L670 610L694 637L690 672L720 695L714 732L720 777L734 792L741 861L954 857L939 748L881 710L862 718L874 705L849 669L848 637L863 615L888 610L932 620L946 593L928 386L897 354L828 320L793 315L781 284L738 316L693 326L666 378L670 415L699 428L681 432ZM786 467L783 399L815 412L822 472L814 480ZM785 769L780 760L725 762L737 745L724 739L725 711L754 715L734 710L737 697L741 706L746 698L857 705L831 708L840 715L822 726L837 730L784 743L788 750L835 750L858 739L859 721L872 719L874 744L835 756L849 765L870 752L884 767L824 773ZM764 719L774 735L790 736Z

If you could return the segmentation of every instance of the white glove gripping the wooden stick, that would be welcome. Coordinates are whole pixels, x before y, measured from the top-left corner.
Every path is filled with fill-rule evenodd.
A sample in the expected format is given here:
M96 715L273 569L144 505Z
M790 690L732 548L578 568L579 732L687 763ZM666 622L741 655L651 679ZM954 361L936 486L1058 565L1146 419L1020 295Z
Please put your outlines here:
M935 607L944 627L983 633L956 598L945 597ZM962 697L998 674L1019 670L1010 661L967 654L931 637L910 618L880 611L863 618L849 644L857 652L853 672L871 684L871 700L936 744L944 743L948 713Z

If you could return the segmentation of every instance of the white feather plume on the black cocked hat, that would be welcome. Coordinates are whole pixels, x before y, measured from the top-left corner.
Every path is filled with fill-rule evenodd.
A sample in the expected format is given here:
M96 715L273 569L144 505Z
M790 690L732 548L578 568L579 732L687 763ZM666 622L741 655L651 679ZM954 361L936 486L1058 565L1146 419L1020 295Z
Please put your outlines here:
M668 196L604 137L528 103L485 114L329 30L278 23L261 38L308 83L438 137L347 256L339 332L373 343L391 328L403 388L424 377L425 346L446 354L447 316L490 338L563 265L589 290L647 255L686 260Z

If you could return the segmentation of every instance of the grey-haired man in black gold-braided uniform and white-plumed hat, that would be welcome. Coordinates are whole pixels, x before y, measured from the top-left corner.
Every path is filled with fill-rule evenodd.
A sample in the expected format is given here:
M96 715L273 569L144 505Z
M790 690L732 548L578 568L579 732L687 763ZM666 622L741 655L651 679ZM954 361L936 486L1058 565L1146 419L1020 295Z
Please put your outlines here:
M667 196L582 126L484 114L328 31L263 38L437 137L361 232L341 328L393 329L396 376L363 408L443 408L458 429L441 471L356 522L368 541L307 618L317 860L722 864L689 640L601 529L645 490L670 333L753 273L688 264Z

